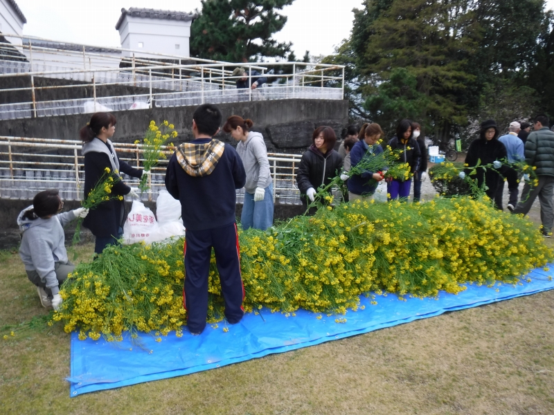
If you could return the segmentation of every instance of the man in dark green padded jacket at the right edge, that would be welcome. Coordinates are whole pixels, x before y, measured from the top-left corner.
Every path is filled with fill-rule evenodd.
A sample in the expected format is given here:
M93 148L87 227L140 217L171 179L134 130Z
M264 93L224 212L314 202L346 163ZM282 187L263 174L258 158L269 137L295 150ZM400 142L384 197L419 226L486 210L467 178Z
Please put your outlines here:
M542 234L546 238L551 237L554 222L554 208L552 198L554 196L554 132L548 126L550 122L546 116L535 117L533 128L535 131L529 134L525 143L525 161L535 169L538 176L538 184L531 189L529 175L524 174L526 181L521 201L512 213L527 214L533 202L539 196L541 203Z

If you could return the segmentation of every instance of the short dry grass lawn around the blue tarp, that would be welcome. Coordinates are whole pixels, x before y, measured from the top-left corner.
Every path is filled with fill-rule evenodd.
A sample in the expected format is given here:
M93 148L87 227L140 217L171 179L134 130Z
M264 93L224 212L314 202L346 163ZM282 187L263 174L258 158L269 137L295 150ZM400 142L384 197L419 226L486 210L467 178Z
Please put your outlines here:
M69 334L0 269L0 414L554 414L554 291L69 398Z

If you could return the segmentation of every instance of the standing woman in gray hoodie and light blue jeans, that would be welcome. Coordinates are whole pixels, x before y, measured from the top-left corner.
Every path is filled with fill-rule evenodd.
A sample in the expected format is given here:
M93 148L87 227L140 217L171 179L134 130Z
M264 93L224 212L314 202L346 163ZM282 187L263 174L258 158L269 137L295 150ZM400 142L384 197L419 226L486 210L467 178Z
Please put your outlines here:
M247 173L244 205L240 216L242 229L266 230L273 225L273 181L263 136L250 131L252 126L252 120L231 116L227 118L223 131L231 133L238 141L237 153Z

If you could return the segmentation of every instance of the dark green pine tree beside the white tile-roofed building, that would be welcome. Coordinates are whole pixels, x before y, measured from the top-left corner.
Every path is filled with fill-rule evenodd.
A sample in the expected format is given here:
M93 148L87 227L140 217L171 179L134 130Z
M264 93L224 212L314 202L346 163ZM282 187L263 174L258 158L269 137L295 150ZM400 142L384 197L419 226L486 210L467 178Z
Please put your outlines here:
M202 0L202 12L191 27L191 55L226 62L286 57L292 44L271 36L287 22L276 10L293 1Z

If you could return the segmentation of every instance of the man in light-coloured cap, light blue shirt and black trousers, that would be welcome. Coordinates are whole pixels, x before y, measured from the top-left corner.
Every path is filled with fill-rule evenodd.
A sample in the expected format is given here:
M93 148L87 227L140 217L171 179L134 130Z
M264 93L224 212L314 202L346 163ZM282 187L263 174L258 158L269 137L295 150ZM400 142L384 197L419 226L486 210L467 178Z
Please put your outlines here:
M508 128L508 131L510 132L506 134L506 136L501 136L501 138L498 139L504 145L504 147L506 147L506 153L508 154L509 165L512 165L513 163L517 163L518 161L522 161L525 158L524 142L521 141L521 138L517 136L517 133L519 133L519 130L520 130L519 127L521 127L519 122L517 121L510 122L510 127ZM512 212L512 210L514 210L515 208L515 205L517 205L517 194L519 193L519 180L518 180L517 172L509 165L506 166L504 175L506 177L506 181L508 182L508 192L510 193L510 199L508 201L508 210ZM500 210L503 210L502 208L503 193L504 193L504 181L501 180L497 187L497 195L494 198L494 203L497 204L497 207Z

